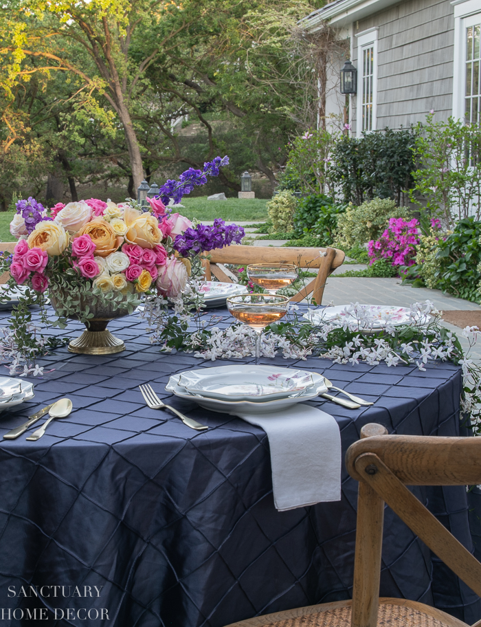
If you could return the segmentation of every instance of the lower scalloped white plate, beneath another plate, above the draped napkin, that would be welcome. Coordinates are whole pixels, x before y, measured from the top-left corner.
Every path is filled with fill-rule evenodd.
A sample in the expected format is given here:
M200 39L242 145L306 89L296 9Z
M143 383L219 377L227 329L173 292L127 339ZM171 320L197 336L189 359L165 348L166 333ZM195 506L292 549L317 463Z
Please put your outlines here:
M317 373L313 373L317 374ZM321 375L319 375L321 376ZM172 392L175 396L183 399L196 402L204 409L208 409L214 412L220 412L223 414L236 414L243 412L245 414L269 414L271 412L277 412L278 410L289 407L296 403L302 403L302 401L309 401L314 399L320 394L327 392L327 386L324 382L324 377L319 385L311 386L302 392L296 392L291 396L276 399L273 401L221 401L220 399L205 398L201 395L194 395L188 392L185 388L179 386L180 374L172 375L168 384L166 385L166 391Z

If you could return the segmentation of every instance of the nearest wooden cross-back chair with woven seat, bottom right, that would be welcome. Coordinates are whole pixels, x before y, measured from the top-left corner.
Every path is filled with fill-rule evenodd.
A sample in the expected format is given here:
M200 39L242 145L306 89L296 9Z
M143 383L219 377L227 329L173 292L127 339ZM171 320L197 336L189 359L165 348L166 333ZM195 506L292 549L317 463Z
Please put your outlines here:
M481 564L406 485L481 483L481 437L387 435L369 424L350 446L346 465L359 481L353 601L287 610L228 627L467 627L431 606L379 598L384 503L438 558L481 596ZM481 627L481 620L473 627Z

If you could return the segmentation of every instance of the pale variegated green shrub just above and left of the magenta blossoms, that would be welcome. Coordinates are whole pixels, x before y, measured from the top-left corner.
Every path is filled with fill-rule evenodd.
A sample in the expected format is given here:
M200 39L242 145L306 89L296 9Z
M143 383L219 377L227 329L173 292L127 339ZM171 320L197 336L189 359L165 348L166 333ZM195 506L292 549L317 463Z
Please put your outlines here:
M394 200L374 198L359 207L349 205L337 219L334 241L342 248L354 248L372 239L379 239L390 218L410 218L405 207L396 207Z

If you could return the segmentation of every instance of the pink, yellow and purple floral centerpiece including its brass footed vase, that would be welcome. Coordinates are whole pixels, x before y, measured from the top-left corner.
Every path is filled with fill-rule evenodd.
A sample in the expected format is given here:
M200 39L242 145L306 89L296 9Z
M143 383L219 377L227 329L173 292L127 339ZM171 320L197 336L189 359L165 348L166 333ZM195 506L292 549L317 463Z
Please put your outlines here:
M52 324L63 327L67 318L85 323L87 331L70 351L123 350L122 340L107 331L111 318L132 313L142 294L177 298L190 277L201 276L203 252L240 243L244 230L237 225L194 224L166 209L170 199L178 203L228 162L216 157L203 171L190 168L179 181L167 181L146 207L91 198L47 209L32 197L21 199L10 224L19 241L12 255L3 254L1 270L10 272L10 287L27 288L24 304L43 305L49 295L58 316ZM13 316L20 328L18 309Z

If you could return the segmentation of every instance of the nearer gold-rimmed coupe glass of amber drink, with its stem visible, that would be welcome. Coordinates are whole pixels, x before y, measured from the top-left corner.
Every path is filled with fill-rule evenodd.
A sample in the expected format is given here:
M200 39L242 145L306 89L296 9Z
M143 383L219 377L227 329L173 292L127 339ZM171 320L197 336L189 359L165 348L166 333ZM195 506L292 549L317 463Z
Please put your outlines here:
M260 357L262 329L284 318L288 308L289 297L277 294L240 294L227 298L227 309L232 316L256 331L256 366Z

